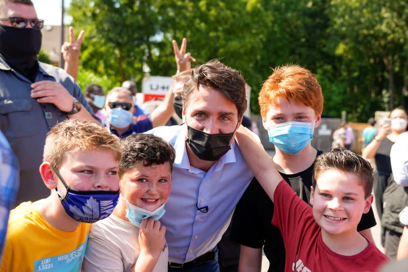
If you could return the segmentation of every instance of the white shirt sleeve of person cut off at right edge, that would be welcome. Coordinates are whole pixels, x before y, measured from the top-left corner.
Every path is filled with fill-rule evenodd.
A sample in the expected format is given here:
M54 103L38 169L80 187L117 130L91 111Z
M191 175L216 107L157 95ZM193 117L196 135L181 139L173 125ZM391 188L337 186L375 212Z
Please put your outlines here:
M391 167L394 181L408 186L408 132L398 136L391 148Z

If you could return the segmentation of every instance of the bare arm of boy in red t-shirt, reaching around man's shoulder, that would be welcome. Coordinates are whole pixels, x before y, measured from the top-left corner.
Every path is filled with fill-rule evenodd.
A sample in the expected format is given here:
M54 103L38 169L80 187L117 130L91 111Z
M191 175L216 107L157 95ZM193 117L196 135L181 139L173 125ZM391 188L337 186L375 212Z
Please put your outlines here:
M276 170L271 157L245 127L238 128L235 139L259 184L273 201L273 194L279 182L282 181L282 176Z

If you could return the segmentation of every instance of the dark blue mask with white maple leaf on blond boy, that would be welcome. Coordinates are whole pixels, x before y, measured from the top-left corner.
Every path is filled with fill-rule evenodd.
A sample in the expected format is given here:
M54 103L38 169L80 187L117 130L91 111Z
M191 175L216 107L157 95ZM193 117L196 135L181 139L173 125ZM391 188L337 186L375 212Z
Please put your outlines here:
M117 191L78 191L69 188L57 167L51 165L66 188L65 196L55 189L65 212L79 222L94 223L111 215L119 200Z

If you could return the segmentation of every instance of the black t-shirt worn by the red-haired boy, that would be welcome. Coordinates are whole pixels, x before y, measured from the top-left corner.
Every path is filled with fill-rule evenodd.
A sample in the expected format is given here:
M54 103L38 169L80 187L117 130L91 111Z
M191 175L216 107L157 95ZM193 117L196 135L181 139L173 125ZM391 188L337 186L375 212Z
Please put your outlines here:
M317 156L322 154L317 152ZM286 175L280 173L284 180L295 190L297 195L307 203L310 199L313 167L315 163L297 174ZM273 202L264 189L253 178L241 197L235 209L231 239L250 248L262 248L269 260L268 271L285 270L285 245L281 231L272 225ZM357 227L358 231L366 230L376 225L373 210L363 214ZM273 267L273 269L272 269Z

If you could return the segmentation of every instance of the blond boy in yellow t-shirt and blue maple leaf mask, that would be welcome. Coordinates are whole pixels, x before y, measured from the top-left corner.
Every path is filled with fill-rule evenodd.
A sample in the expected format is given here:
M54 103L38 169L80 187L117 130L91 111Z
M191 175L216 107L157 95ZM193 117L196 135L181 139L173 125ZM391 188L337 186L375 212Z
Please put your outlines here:
M11 211L0 270L80 271L89 223L118 202L120 156L119 139L96 123L67 119L53 127L40 165L51 194Z

